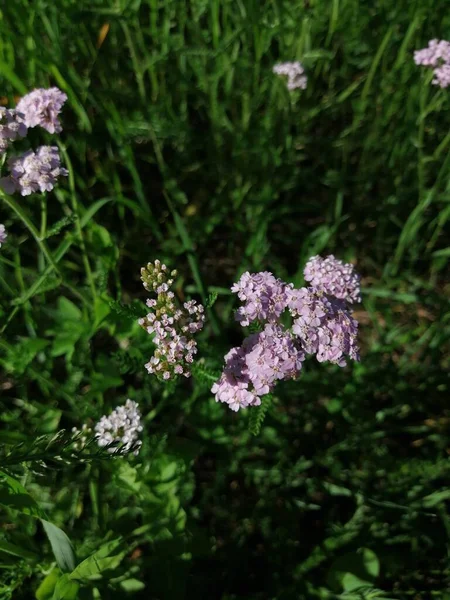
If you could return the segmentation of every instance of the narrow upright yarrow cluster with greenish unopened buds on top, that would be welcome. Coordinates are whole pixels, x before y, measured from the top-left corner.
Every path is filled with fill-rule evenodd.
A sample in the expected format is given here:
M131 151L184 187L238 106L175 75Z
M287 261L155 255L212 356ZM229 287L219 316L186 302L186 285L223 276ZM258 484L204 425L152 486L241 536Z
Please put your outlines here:
M147 300L150 312L139 319L139 325L153 334L155 352L145 365L150 374L161 379L178 375L190 377L190 365L197 353L194 339L205 322L204 309L195 300L178 304L172 291L177 272L169 272L159 260L141 269L144 288L156 298Z

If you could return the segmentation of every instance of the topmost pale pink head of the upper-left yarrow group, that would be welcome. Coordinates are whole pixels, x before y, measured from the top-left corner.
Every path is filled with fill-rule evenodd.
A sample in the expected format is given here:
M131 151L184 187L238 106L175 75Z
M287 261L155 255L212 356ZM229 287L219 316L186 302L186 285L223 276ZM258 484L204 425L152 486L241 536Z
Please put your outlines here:
M49 133L62 131L58 115L67 100L67 95L57 87L39 88L26 94L16 109L23 113L27 127L43 127Z

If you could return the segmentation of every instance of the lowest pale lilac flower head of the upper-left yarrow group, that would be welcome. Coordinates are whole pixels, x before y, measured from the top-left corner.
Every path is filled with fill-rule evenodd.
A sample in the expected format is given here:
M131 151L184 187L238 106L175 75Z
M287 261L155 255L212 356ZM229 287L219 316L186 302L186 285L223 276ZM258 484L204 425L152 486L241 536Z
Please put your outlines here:
M8 167L11 175L0 179L0 185L7 194L20 192L22 196L49 192L59 177L69 174L61 167L56 146L40 146L36 152L28 150L21 156L11 157Z

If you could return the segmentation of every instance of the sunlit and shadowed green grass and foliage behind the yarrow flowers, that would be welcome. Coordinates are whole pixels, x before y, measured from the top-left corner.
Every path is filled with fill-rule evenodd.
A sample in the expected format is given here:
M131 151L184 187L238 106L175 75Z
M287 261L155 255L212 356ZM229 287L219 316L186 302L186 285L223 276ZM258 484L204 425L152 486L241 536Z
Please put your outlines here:
M95 560L58 591L39 525L2 509L1 597L450 598L449 92L413 61L450 37L447 9L3 3L0 100L67 93L71 177L47 198L58 273L0 205L0 441L79 427L127 397L145 431L137 459L18 468ZM304 64L305 91L273 75L286 60ZM39 199L18 201L38 225ZM362 275L361 362L309 361L253 436L209 391L242 340L229 288L243 270L301 285L317 253ZM139 271L155 258L179 270L180 297L218 293L192 381L143 369Z

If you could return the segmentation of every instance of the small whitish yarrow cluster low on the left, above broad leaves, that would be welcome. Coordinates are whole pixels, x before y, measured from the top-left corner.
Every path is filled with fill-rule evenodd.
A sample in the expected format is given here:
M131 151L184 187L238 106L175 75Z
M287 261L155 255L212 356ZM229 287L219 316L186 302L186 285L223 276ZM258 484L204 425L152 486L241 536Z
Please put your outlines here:
M88 438L94 434L97 444L111 454L133 452L139 454L142 442L139 434L142 431L141 413L137 402L128 399L122 406L117 406L109 416L104 415L94 426L94 429L84 424L81 430L74 427L72 433L76 436L77 448L83 448Z

